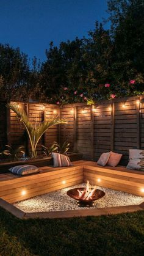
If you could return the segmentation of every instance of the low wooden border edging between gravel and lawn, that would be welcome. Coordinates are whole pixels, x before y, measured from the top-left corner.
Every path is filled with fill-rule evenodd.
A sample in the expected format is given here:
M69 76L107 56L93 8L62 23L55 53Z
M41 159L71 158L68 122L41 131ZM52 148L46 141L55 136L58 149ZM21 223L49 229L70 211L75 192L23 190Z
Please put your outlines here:
M121 207L107 207L98 209L87 210L68 210L68 211L46 211L38 213L24 213L10 203L0 198L0 207L9 211L19 219L57 219L57 218L73 218L73 217L85 217L85 216L101 216L108 214L120 214L120 213L132 213L134 211L143 211L144 202L140 205L126 205Z

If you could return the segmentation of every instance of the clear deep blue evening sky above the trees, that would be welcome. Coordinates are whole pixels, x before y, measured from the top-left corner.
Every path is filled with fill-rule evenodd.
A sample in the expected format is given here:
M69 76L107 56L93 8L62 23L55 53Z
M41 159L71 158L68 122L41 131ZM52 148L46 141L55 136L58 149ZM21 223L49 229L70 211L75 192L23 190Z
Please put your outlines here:
M51 41L87 37L106 10L106 0L0 0L0 43L43 61Z

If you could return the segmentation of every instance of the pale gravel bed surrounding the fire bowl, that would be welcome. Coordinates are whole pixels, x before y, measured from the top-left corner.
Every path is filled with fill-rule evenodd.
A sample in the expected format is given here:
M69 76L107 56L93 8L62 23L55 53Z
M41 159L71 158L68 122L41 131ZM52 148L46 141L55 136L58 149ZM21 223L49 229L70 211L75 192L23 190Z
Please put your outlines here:
M38 211L67 211L67 210L79 210L87 209L86 207L78 207L76 200L67 196L67 191L71 188L85 187L85 183L71 186L69 188L60 189L58 191L49 192L48 194L33 197L18 203L14 206L27 213L34 213ZM91 208L103 208L103 207L116 207L122 205L139 205L144 202L144 197L134 196L126 192L115 191L108 188L98 189L106 192L106 195L95 201L95 205Z

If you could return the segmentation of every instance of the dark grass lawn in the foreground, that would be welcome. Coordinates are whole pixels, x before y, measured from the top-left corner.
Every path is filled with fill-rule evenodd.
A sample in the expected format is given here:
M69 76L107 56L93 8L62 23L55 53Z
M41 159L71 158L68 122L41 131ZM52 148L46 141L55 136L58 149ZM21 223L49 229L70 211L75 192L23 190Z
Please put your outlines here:
M144 211L22 221L0 208L0 255L144 255Z

